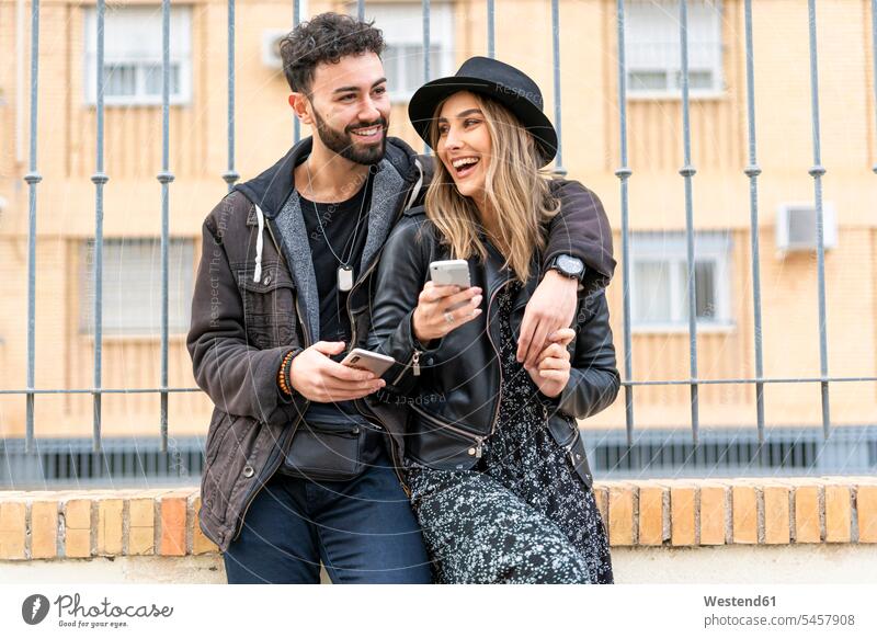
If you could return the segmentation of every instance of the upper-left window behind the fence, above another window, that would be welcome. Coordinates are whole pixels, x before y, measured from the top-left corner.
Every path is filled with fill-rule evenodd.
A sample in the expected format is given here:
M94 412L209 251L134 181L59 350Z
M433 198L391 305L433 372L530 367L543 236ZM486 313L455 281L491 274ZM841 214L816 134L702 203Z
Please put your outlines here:
M107 7L104 15L104 103L161 104L161 7ZM187 7L171 8L170 102L191 99L192 26ZM98 102L98 12L86 10L86 102Z

